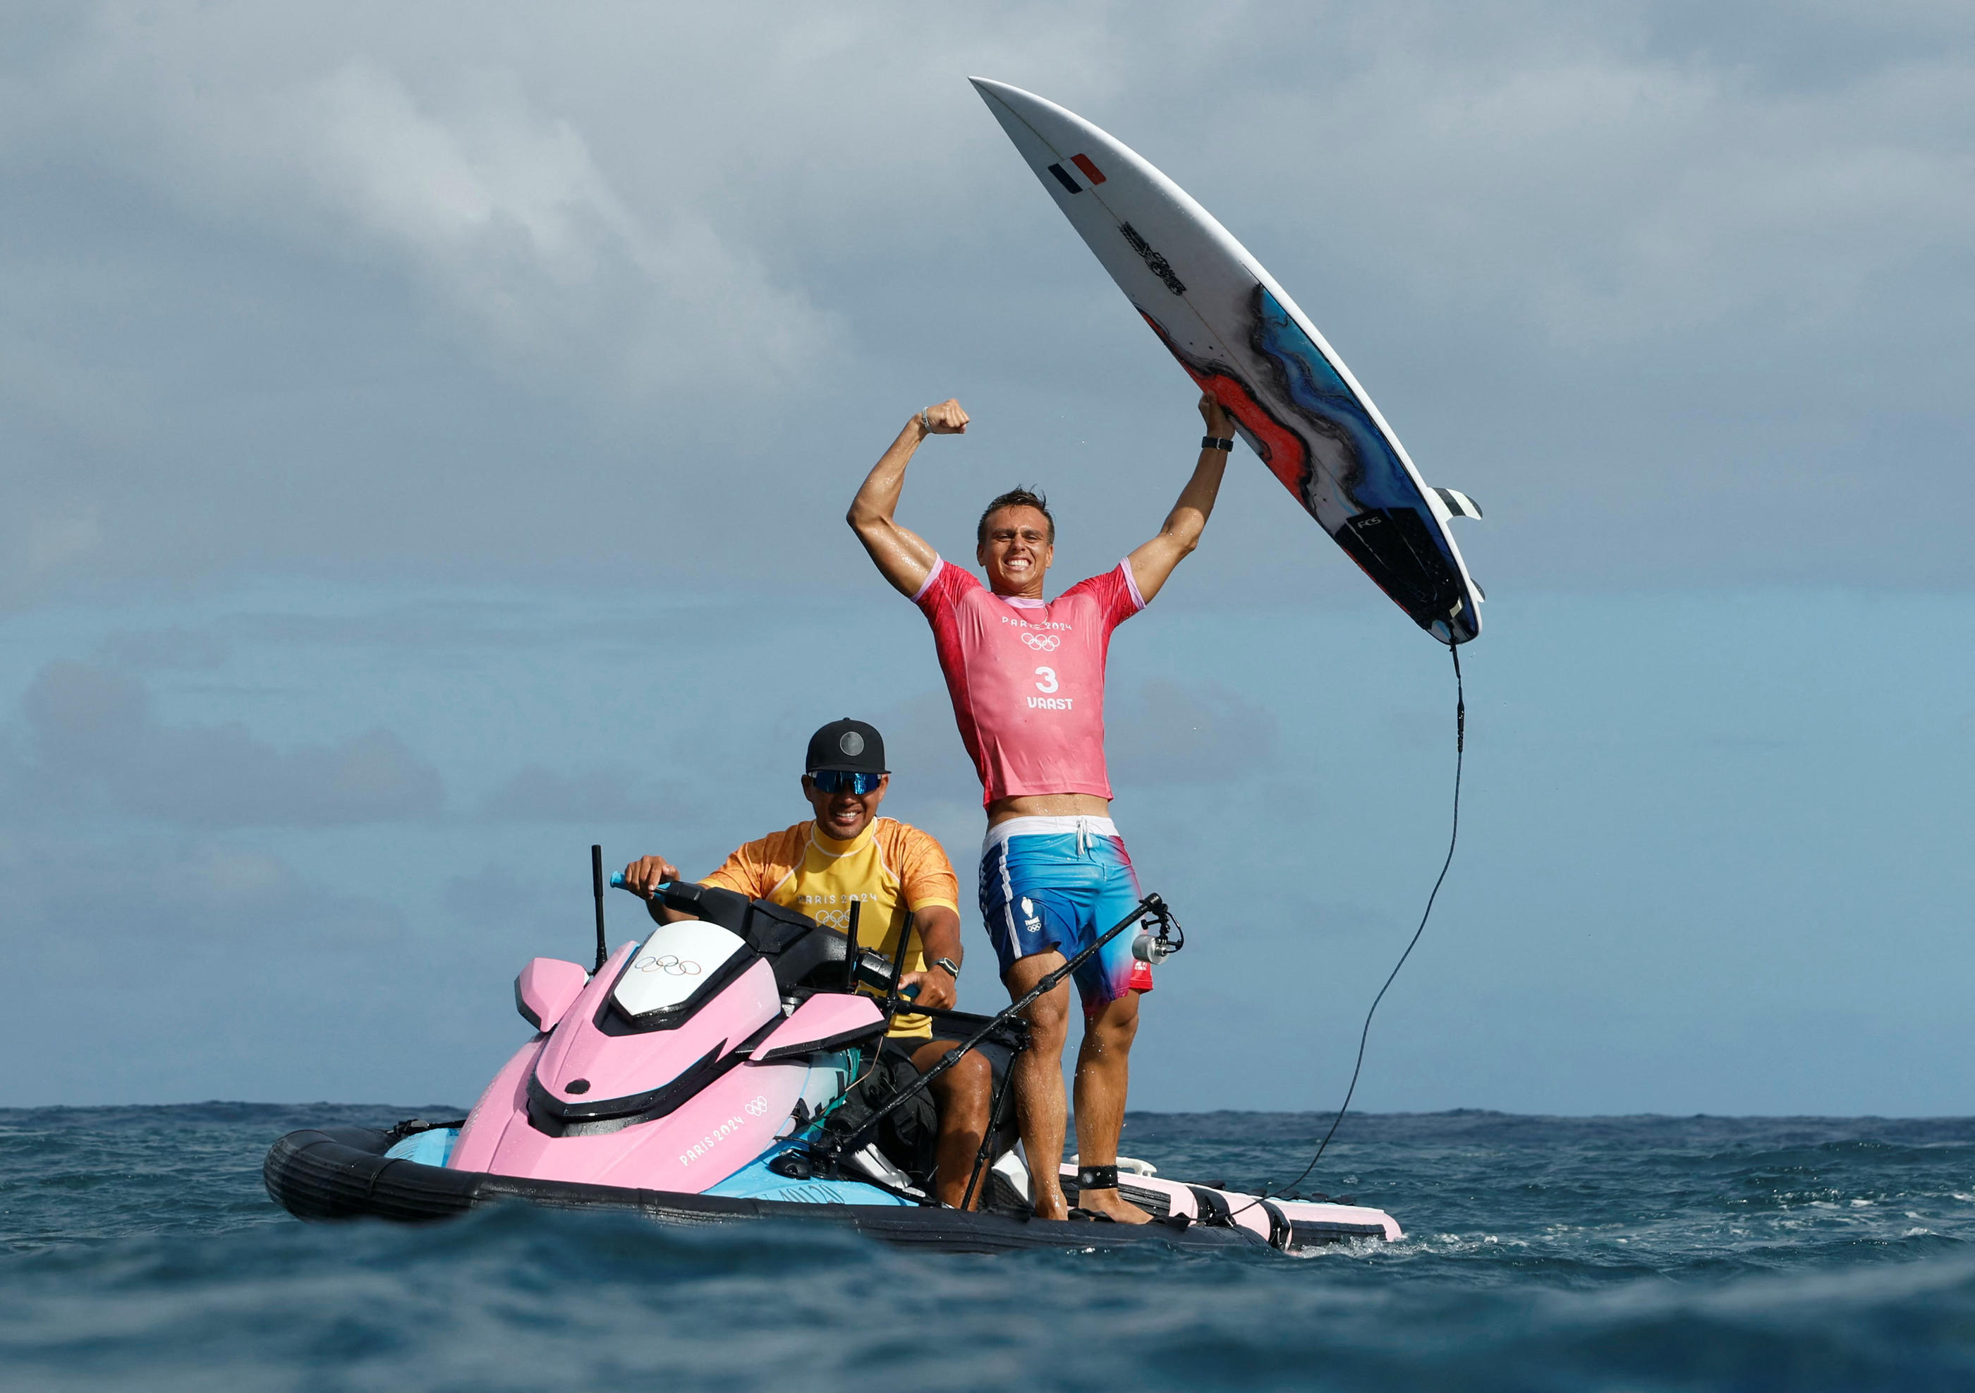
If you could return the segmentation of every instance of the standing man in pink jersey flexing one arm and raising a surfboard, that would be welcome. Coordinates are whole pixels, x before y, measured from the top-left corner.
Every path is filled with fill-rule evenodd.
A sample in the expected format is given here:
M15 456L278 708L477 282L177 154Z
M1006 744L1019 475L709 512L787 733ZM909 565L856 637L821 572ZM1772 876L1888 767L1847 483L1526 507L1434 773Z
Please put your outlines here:
M1112 630L1159 593L1173 567L1199 545L1215 510L1234 449L1232 421L1211 395L1201 397L1201 417L1207 439L1199 462L1159 535L1114 571L1047 603L1043 577L1055 559L1057 522L1039 494L1015 488L982 514L974 559L988 573L986 589L893 516L918 443L968 429L958 401L912 417L851 502L849 524L877 569L932 624L960 739L974 757L988 806L980 905L1009 996L1063 966L1140 899L1132 858L1110 820L1104 660ZM1144 1223L1149 1215L1118 1195L1118 1132L1138 998L1151 990L1151 970L1132 958L1132 937L1118 935L1076 972L1084 1006L1076 1053L1076 1203ZM1015 1059L1017 1124L1029 1154L1035 1213L1045 1219L1068 1213L1059 1178L1068 996L1068 986L1059 984L1029 1010L1035 1047Z

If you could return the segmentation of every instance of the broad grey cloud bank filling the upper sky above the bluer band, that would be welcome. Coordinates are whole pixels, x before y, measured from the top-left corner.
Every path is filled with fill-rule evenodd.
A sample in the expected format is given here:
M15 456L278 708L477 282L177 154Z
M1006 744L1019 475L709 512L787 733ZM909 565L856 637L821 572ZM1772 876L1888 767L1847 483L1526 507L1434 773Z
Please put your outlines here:
M968 71L1221 215L1485 500L1497 593L1965 583L1951 504L1884 504L1965 498L1975 443L1949 6L95 4L10 38L0 603L241 569L774 589L855 563L843 494L948 393L980 425L914 518L1037 456L1118 512L1185 381ZM1242 460L1209 539L1242 563L1195 567L1359 583L1250 490Z

